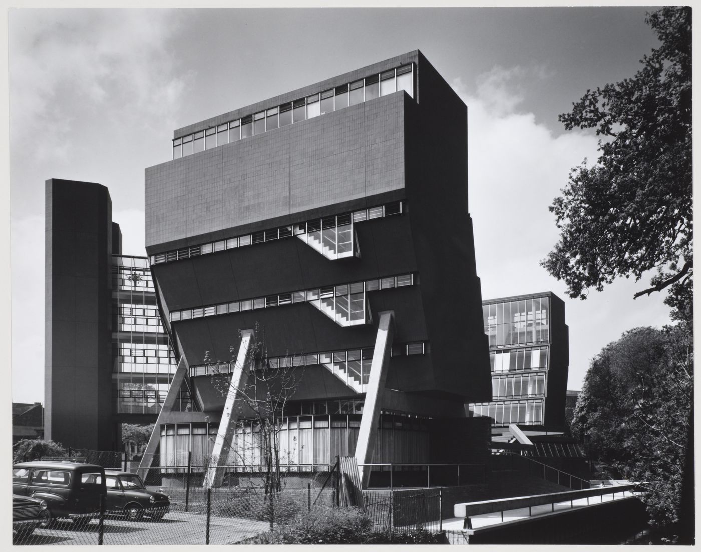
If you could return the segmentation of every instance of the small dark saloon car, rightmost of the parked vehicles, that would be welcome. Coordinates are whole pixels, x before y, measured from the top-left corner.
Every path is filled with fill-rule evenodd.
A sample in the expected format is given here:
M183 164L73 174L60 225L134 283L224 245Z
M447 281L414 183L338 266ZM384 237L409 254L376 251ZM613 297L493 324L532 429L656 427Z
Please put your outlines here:
M104 478L107 483L108 511L120 511L131 521L141 519L144 514L152 520L159 520L168 513L168 495L148 490L137 474L106 470Z

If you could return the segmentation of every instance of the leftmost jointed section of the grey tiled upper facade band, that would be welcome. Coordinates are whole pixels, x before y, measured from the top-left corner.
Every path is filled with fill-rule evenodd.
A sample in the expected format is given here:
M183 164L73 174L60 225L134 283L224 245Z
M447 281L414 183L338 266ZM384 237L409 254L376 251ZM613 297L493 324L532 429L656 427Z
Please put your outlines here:
M186 233L186 161L176 159L146 170L146 243Z

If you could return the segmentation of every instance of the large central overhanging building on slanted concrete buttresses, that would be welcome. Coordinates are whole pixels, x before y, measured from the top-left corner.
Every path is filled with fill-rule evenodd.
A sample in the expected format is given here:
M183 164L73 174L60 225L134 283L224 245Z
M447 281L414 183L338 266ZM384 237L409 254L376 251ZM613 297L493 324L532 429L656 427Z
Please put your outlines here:
M482 457L488 427L464 408L491 398L467 109L426 58L222 113L172 143L146 170L146 246L179 364L142 466L159 447L161 466L259 462L229 453L255 439L237 394L251 360L299 374L280 413L299 469Z

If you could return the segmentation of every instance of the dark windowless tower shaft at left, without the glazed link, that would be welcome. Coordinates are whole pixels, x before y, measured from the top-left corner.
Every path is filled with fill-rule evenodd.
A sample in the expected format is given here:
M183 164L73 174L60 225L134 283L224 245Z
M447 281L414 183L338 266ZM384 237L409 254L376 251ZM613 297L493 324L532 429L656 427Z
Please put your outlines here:
M46 439L112 450L111 200L89 182L46 181Z

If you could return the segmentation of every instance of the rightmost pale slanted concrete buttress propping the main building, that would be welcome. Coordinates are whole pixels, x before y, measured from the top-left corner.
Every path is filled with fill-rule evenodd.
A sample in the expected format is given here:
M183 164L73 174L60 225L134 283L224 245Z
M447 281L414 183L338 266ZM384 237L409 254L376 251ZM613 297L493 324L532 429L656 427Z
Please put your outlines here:
M360 464L372 462L372 453L377 439L377 424L380 420L382 406L382 394L387 380L387 369L390 364L390 352L394 338L394 312L391 310L379 312L379 324L375 348L372 352L372 364L370 364L370 377L365 393L365 406L362 408L360 418L360 432L358 432L358 444L355 446L355 460L358 461L360 471L360 485L367 489L370 478L370 467Z

